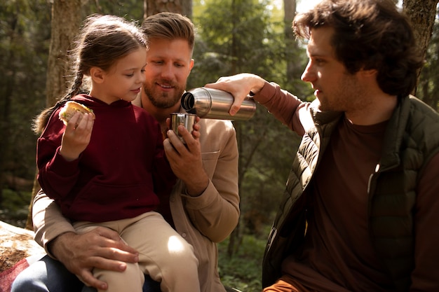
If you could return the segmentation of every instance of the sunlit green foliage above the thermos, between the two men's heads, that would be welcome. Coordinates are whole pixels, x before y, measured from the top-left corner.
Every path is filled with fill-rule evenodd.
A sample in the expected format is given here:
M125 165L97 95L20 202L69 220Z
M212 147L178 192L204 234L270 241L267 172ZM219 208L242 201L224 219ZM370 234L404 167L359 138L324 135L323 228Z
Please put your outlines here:
M282 27L271 20L268 3L211 0L203 10L194 9L199 37L189 88L241 72L273 78L272 73L283 64Z

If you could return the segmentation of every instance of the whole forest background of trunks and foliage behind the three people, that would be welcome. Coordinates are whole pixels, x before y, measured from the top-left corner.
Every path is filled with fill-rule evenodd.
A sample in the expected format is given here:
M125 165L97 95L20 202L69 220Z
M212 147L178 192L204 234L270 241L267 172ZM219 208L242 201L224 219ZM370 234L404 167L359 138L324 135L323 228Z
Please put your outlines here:
M309 0L302 0L303 2ZM29 203L36 166L32 119L65 90L67 50L81 22L92 13L120 15L139 23L145 15L174 11L197 28L195 66L187 88L220 76L251 72L274 81L303 100L312 88L300 81L307 57L304 43L292 36L291 20L300 0L6 0L0 4L0 220L30 228ZM417 97L439 109L438 0L405 0L426 64ZM58 7L58 8L57 8ZM428 15L419 14L417 7ZM432 8L432 9L429 9ZM59 9L60 11L57 11ZM67 12L67 14L63 14ZM70 28L67 34L59 34ZM424 33L424 36L419 34ZM58 39L54 38L58 34ZM57 43L58 42L58 43ZM58 47L57 47L58 46ZM54 49L54 48L58 48ZM61 65L59 62L61 61ZM57 64L58 62L58 64ZM219 244L224 284L260 291L265 240L285 187L299 137L262 106L245 122L234 122L240 153L241 220Z

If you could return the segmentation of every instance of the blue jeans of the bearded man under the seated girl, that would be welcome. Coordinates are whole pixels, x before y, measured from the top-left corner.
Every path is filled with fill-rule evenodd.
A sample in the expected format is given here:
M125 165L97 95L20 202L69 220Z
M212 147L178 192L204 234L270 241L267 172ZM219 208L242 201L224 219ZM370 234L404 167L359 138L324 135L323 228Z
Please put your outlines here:
M50 280L49 280L50 278ZM96 292L85 286L58 260L44 256L18 274L11 292ZM161 292L160 283L145 275L143 292Z

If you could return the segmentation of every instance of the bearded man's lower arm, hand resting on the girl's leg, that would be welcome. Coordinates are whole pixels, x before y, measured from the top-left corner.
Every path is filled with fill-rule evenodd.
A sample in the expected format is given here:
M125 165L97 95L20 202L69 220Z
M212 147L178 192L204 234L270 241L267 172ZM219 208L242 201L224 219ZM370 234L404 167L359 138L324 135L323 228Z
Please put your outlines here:
M94 267L123 271L126 263L138 261L137 251L126 245L113 230L95 228L76 234L58 205L42 190L35 197L32 216L36 242L89 286L107 288L107 283L93 277L91 270Z

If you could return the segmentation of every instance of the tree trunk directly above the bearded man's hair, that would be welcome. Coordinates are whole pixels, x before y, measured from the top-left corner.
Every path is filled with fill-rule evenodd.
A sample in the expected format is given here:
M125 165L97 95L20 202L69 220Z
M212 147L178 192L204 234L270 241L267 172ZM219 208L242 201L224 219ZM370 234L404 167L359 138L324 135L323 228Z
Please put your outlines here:
M192 18L192 0L144 0L145 3L147 16L168 11Z

